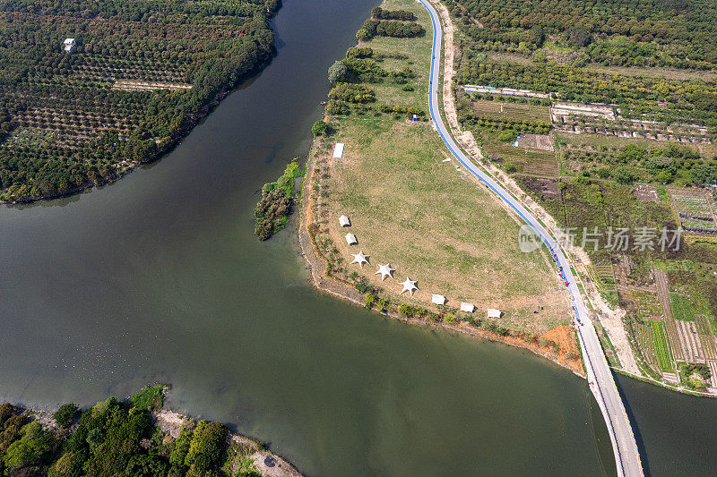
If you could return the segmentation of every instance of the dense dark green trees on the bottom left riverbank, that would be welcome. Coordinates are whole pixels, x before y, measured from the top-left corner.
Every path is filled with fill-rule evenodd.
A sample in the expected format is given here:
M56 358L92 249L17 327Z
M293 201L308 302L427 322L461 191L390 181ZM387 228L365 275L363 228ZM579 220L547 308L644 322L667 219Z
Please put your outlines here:
M190 421L177 439L156 427L152 412L161 408L163 390L144 388L126 401L110 397L85 410L63 405L51 423L0 405L0 475L261 475L248 458L255 443L229 440L220 422Z

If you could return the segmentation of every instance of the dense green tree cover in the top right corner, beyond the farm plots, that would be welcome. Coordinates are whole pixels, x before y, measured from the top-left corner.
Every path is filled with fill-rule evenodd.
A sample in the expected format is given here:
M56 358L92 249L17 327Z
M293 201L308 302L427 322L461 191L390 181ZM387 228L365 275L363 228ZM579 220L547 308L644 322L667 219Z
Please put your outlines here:
M527 54L549 37L565 39L592 63L713 69L713 0L446 0L485 50Z

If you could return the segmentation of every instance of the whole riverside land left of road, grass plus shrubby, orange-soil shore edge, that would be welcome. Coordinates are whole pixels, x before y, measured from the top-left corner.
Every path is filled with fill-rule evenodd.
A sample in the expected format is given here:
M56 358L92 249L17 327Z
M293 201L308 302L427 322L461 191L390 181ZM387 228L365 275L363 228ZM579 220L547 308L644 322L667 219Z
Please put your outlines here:
M391 0L382 8L410 12L430 28L420 5ZM420 120L428 106L430 36L361 41L342 61L354 75L330 92L325 120L334 132L312 145L298 227L312 283L404 322L523 347L580 374L564 292L548 260L505 240L517 236L513 215L454 170ZM347 90L369 99L355 103ZM408 108L419 121L405 114ZM346 144L342 158L332 157L335 142ZM350 216L350 227L338 224L340 215ZM343 246L346 232L358 236L358 245ZM351 264L359 249L370 260L389 261L396 275L418 279L419 290L402 294L395 289L402 278L376 277L379 261ZM437 293L447 296L446 305L431 303ZM473 303L476 313L458 311L458 301ZM486 319L494 307L501 318Z

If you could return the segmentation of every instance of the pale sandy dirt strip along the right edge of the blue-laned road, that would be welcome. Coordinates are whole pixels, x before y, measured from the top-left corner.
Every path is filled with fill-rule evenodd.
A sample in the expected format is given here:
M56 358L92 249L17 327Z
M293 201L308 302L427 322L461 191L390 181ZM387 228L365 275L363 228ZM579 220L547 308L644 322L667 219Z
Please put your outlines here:
M431 4L436 7L436 11L441 16L441 23L443 24L444 30L444 42L445 42L445 55L444 55L444 81L443 81L443 102L445 116L448 120L448 127L451 129L451 133L458 144L466 150L481 166L485 167L492 175L494 175L498 181L505 185L505 188L510 192L513 192L517 197L523 200L523 204L531 209L536 217L539 217L547 226L546 228L550 233L554 234L557 229L557 222L553 217L550 217L549 213L540 207L535 200L532 200L523 190L518 186L515 181L509 176L505 175L503 171L493 166L489 161L485 160L482 150L479 148L478 142L470 131L462 131L460 124L458 123L458 115L455 109L455 99L453 90L451 89L454 76L455 76L455 27L453 21L451 21L450 13L444 4L431 0ZM587 253L582 249L574 247L572 251L578 254L586 267L589 267L591 262ZM586 285L586 284L585 284ZM593 287L594 288L594 287ZM589 294L590 291L588 291ZM625 316L625 311L617 310L613 311L609 308L608 304L602 300L597 290L591 294L592 303L601 312L602 317L600 322L608 333L610 342L615 347L616 353L618 353L618 359L626 371L631 372L635 375L642 376L642 372L637 366L635 361L635 354L632 351L632 347L629 344L627 332L625 326L622 323L622 317Z

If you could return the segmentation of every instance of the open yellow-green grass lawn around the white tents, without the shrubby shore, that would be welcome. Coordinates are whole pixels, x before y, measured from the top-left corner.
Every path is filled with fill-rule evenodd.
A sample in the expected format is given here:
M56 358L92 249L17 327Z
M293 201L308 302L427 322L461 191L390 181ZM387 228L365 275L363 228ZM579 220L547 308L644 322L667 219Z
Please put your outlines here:
M428 309L436 320L471 319L537 341L536 335L569 320L557 276L539 252L519 250L519 225L497 199L456 171L455 160L443 162L450 156L430 124L381 113L383 104L428 113L432 36L428 12L420 4L387 0L381 6L415 13L427 33L362 42L359 47L370 47L374 57L383 58L376 64L384 71L410 68L415 73L410 88L390 76L364 83L376 100L351 105L349 115L329 115L335 132L315 141L311 192L317 203L310 230L329 262L328 273L378 292L384 302ZM346 144L341 160L331 158L335 142ZM350 229L339 226L342 214L350 217ZM346 244L347 232L356 234L358 245ZM358 251L370 255L363 269L350 264L350 254ZM393 279L381 282L373 273L386 262L396 271ZM399 282L406 277L418 280L413 297L400 295ZM447 305L431 305L431 294L444 294ZM475 304L475 315L455 313L461 301ZM487 308L505 315L488 321L483 319Z

